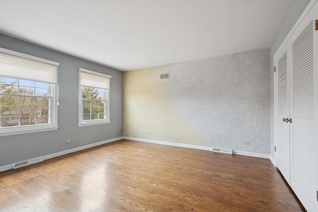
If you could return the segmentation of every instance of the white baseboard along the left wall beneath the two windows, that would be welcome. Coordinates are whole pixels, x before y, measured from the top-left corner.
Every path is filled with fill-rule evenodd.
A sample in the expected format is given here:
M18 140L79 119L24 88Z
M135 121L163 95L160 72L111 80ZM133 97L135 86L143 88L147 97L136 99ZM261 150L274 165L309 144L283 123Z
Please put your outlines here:
M61 155L64 155L64 154L69 154L69 153L80 151L80 150L83 150L83 149L86 149L86 148L91 148L91 147L94 147L94 146L98 146L98 145L102 145L102 144L105 144L105 143L110 143L110 142L118 141L118 140L122 140L122 139L123 139L123 137L119 137L119 138L109 139L109 140L106 140L106 141L100 141L100 142L96 142L96 143L91 143L91 144L88 144L88 145L79 146L79 147L76 147L76 148L72 148L72 149L56 152L56 153L53 153L53 154L48 154L48 155L45 155L43 157L44 157L44 160L47 160L47 159L51 159L53 157L58 157L58 156L61 156ZM5 165L5 166L0 166L0 172L1 171L7 171L7 170L10 170L10 169L13 169L13 165L12 164Z

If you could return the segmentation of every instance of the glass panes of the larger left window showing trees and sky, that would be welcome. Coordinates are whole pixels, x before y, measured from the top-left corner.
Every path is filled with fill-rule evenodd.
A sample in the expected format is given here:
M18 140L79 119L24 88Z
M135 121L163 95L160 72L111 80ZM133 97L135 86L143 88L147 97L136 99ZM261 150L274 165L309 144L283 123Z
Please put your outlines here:
M0 127L48 124L49 83L0 77Z

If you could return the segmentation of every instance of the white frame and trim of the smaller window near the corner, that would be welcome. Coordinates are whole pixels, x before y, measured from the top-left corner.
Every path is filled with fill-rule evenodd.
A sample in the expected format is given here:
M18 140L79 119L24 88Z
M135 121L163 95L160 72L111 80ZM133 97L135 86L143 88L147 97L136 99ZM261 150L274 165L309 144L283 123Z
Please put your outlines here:
M84 127L84 126L94 126L94 125L102 125L102 124L109 124L110 123L110 89L105 89L105 88L99 88L99 87L89 87L89 86L81 86L80 84L80 72L86 72L86 73L91 73L95 75L99 75L101 77L107 77L111 78L111 76L95 72L95 71L90 71L86 69L79 68L79 127ZM82 98L82 88L87 87L87 88L97 88L97 89L103 89L105 92L105 101L106 104L104 107L106 108L106 113L104 114L105 119L94 119L94 120L83 120L83 101L86 100ZM96 100L89 100L88 101L96 101ZM105 109L104 109L105 110Z

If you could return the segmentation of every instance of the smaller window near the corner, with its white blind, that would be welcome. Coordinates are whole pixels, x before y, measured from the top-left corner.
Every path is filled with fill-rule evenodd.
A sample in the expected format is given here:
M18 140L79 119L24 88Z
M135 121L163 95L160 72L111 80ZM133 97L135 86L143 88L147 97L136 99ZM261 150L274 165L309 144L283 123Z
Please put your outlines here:
M111 76L79 69L79 127L107 124Z

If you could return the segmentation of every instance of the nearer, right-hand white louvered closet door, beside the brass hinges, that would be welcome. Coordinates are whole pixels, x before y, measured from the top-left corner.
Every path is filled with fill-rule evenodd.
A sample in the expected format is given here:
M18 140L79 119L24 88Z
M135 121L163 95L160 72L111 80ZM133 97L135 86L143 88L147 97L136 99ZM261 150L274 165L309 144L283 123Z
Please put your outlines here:
M307 14L295 35L292 37L292 75L290 95L291 139L291 187L307 211L318 212L317 183L318 175L318 128L314 112L317 87L317 33L315 16L318 19L318 4ZM315 12L314 12L315 11ZM314 37L315 34L315 37ZM316 38L316 39L315 39ZM316 51L317 52L317 51ZM315 73L316 71L316 73ZM316 131L316 132L315 132ZM316 152L315 152L316 151ZM316 158L315 158L316 154Z

